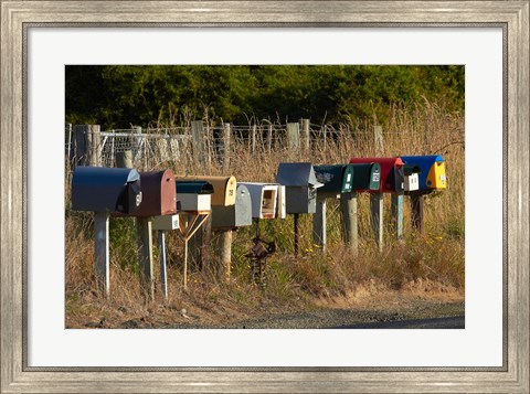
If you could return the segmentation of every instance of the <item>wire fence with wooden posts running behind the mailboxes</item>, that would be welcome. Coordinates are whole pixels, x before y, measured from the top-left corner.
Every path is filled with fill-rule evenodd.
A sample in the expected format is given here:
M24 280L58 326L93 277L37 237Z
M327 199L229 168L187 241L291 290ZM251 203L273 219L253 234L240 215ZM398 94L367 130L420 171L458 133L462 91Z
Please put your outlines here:
M446 119L447 120L447 119ZM462 120L462 119L460 119ZM98 126L66 127L67 173L78 164L172 168L187 173L256 172L282 161L348 162L351 157L434 155L464 145L463 121L444 124L315 125L262 123L245 126L193 121L172 128L132 127L100 131ZM406 126L406 127L405 127Z

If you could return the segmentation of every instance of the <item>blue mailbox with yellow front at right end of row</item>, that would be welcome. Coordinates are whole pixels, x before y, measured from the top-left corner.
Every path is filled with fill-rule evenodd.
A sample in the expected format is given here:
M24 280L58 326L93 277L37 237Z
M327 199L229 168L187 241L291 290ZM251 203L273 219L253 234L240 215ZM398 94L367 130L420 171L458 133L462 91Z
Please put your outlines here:
M439 155L432 156L402 156L401 160L405 166L417 166L418 191L431 192L433 190L446 189L447 178L445 175L445 160Z

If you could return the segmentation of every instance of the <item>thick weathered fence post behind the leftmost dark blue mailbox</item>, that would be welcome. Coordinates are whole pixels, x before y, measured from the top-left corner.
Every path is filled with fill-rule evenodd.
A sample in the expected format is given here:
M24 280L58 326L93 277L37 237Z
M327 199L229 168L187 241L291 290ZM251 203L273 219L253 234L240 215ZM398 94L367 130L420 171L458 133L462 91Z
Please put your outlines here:
M75 125L75 166L102 166L99 125Z

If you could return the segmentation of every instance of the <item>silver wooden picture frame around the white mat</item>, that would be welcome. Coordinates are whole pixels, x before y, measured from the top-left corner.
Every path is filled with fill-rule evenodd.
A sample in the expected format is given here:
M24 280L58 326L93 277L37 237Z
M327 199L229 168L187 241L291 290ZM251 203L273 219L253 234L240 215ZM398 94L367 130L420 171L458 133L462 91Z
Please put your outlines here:
M1 393L529 393L529 0L8 1L1 4ZM162 12L163 10L163 12ZM504 31L502 368L28 365L26 34L32 26L497 26Z

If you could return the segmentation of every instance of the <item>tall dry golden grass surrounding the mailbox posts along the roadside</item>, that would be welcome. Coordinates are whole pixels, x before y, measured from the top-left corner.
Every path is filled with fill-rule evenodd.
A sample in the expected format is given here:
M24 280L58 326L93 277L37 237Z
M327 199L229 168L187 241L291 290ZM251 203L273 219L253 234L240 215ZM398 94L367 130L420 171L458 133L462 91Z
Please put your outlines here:
M311 239L311 219L301 215L300 257L293 257L293 219L262 221L262 236L274 239L278 251L267 260L266 287L251 280L248 260L255 227L234 233L230 283L220 281L211 270L192 270L189 290L182 288L183 241L177 232L167 234L168 283L170 298L166 302L157 294L146 300L140 287L132 219L110 220L109 299L97 290L93 269L92 214L66 214L66 327L170 327L186 322L190 311L204 324L252 316L266 308L297 308L315 305L322 297L344 297L354 289L377 284L392 290L405 289L414 283L436 283L462 292L464 289L464 116L449 114L432 104L409 110L392 107L384 130L384 148L378 156L434 155L446 160L448 189L427 195L425 234L414 234L410 224L407 199L404 206L405 239L398 243L386 228L386 246L380 253L371 239L369 199L360 195L360 253L353 257L340 239L338 203L328 202L328 252L324 254ZM309 151L285 148L268 152L263 146L252 152L247 141L235 139L231 146L230 173L239 181L274 181L282 161L311 161L314 164L348 162L349 158L375 156L372 125L357 124L328 127L326 145L314 143ZM331 137L332 136L332 137ZM179 162L153 163L153 168L171 168L176 173L221 174L222 163L214 159L200 163L191 155ZM70 187L66 187L70 200ZM385 212L390 212L385 199ZM67 205L70 206L70 201ZM386 209L389 207L389 209ZM390 223L385 217L385 223ZM215 235L214 235L215 237ZM212 245L215 244L212 239ZM212 246L213 249L213 246ZM158 251L155 251L155 257ZM212 253L211 267L215 267ZM157 291L160 288L156 267ZM186 312L183 311L186 309Z

